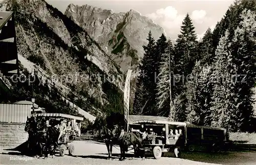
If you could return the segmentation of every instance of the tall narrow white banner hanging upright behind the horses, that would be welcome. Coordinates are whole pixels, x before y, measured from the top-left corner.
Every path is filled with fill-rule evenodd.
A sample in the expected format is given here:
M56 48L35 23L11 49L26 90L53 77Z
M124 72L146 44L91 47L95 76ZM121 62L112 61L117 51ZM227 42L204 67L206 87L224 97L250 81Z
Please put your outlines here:
M127 115L129 115L129 102L130 102L130 78L132 75L132 70L129 69L126 74L125 79L125 85L124 85L124 98L123 98L123 104L124 104L124 117L127 118Z

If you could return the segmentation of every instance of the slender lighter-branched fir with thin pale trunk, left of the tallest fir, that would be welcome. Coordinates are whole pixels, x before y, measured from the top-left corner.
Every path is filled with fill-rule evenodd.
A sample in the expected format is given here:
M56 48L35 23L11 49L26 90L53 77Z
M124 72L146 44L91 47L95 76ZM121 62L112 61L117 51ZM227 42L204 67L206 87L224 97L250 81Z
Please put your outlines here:
M157 108L159 116L168 116L172 97L174 50L172 41L168 40L165 52L162 53L160 75L157 82Z

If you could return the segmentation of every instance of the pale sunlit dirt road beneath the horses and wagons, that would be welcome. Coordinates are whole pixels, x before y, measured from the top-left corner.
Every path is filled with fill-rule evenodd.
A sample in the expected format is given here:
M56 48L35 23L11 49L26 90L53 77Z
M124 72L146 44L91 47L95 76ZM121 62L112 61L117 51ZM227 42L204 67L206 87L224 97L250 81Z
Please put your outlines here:
M256 153L225 153L202 154L182 153L182 158L162 157L158 160L147 157L132 159L132 153L127 154L127 159L119 161L119 148L113 148L113 160L107 160L108 152L103 144L90 141L76 141L75 155L63 157L56 156L48 159L36 159L19 156L17 152L1 151L0 164L256 164ZM67 153L68 154L68 153ZM166 154L172 156L172 154Z

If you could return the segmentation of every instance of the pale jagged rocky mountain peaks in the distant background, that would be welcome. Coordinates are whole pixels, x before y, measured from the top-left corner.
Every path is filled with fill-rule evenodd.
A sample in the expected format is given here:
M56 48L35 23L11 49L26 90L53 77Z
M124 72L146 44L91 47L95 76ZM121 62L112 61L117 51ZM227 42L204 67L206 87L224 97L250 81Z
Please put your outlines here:
M136 70L144 53L142 45L147 44L150 30L156 40L165 34L152 19L132 9L126 13L114 13L89 5L70 4L65 15L86 30L123 72L128 69L130 61L132 69Z

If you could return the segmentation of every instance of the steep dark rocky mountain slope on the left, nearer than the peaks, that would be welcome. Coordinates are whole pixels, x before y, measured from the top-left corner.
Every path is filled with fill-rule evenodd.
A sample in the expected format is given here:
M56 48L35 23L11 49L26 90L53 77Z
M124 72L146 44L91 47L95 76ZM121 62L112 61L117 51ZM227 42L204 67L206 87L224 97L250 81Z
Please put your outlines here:
M123 82L111 79L122 74L120 68L86 31L45 1L7 0L1 7L15 13L19 59L34 63L34 71L52 79L64 99L82 100L80 108L94 116L99 107L121 102ZM28 63L20 63L31 72Z

